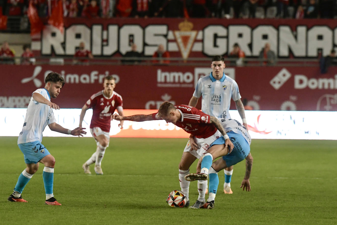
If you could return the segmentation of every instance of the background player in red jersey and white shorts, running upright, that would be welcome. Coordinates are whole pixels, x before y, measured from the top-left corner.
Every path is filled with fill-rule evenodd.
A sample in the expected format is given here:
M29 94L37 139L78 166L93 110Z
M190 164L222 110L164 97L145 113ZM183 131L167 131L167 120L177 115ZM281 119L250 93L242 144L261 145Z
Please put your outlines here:
M80 127L84 115L89 108L92 108L92 117L90 123L90 132L96 141L96 150L92 156L82 165L85 173L91 174L89 166L95 163L96 174L102 175L101 162L104 157L105 149L109 146L110 140L110 116L117 112L123 116L123 100L122 96L114 91L116 87L116 80L112 76L104 78L104 90L93 94L86 104L82 107L80 115ZM121 121L119 127L123 129L123 122Z

